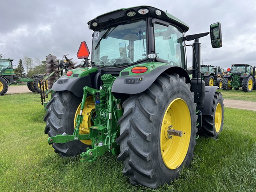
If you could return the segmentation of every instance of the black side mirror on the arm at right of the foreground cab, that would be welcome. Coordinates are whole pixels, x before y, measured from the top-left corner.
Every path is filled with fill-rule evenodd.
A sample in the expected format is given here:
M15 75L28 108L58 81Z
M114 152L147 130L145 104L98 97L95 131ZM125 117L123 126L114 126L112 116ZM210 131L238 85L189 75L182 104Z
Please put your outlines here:
M210 33L211 33L212 48L222 47L222 36L221 36L220 23L211 24Z

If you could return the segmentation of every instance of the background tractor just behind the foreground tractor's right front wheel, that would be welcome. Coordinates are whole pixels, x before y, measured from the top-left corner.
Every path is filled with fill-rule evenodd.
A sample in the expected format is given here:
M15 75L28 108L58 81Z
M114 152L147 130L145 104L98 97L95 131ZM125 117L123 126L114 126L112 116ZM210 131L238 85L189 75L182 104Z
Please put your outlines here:
M214 67L212 65L201 65L201 72L205 86L218 86L222 87L222 78L220 76L220 67Z

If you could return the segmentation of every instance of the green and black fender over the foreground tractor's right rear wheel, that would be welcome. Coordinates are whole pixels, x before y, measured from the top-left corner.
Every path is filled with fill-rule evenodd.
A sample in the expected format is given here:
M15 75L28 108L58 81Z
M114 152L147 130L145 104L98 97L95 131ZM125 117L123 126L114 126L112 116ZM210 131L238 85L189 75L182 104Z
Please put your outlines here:
M132 68L138 66L147 66L149 70L148 72L139 74L132 73ZM112 93L116 98L121 98L122 94L138 94L144 92L163 72L175 72L180 76L184 76L186 83L191 83L188 73L181 67L165 63L140 64L126 68L120 72L120 76L113 83Z

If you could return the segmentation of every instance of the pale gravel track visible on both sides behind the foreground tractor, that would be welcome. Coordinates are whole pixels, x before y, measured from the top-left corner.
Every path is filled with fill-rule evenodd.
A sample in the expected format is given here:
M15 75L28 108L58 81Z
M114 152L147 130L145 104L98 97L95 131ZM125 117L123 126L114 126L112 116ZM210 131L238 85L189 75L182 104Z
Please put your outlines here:
M24 86L9 86L6 95L14 93L31 92L26 85ZM256 102L243 100L228 100L224 99L224 106L230 108L248 109L256 111Z

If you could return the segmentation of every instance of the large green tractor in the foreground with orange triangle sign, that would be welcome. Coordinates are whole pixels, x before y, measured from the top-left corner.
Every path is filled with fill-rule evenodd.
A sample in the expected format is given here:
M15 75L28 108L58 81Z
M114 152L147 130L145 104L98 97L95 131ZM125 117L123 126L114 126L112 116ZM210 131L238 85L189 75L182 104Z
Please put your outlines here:
M44 117L48 143L62 157L93 162L106 152L124 164L133 185L170 184L189 166L197 133L216 138L223 129L223 97L200 76L199 38L221 43L220 23L184 36L189 27L150 6L123 8L88 22L92 59L82 42L84 67L52 86ZM192 44L187 70L185 41ZM192 74L192 79L189 78Z

